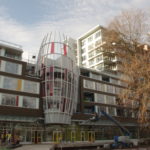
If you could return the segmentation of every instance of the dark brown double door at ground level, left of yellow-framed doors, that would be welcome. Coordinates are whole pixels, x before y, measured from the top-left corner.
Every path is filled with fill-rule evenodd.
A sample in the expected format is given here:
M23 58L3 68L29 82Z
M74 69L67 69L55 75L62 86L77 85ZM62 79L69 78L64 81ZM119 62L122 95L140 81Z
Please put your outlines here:
M42 131L32 131L32 143L38 144L42 142Z

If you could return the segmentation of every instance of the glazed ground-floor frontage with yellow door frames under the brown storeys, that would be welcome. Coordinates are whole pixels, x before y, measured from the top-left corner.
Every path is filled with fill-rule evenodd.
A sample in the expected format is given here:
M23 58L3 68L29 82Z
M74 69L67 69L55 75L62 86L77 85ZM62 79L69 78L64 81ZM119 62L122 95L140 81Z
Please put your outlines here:
M136 126L128 126L131 132L131 138L149 138L150 130L139 129ZM40 143L61 143L99 140L112 140L114 136L122 135L118 127L108 125L40 125L32 123L0 123L1 143L7 144L8 137L12 140L17 137L22 144L40 144ZM3 144L2 143L2 144Z

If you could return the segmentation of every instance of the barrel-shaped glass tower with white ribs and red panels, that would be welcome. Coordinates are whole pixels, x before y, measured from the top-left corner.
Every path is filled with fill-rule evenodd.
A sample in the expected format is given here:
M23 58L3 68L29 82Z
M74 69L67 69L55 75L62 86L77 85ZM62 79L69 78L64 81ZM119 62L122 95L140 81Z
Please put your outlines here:
M41 44L37 71L42 78L46 124L70 124L77 107L78 69L72 40L47 34Z

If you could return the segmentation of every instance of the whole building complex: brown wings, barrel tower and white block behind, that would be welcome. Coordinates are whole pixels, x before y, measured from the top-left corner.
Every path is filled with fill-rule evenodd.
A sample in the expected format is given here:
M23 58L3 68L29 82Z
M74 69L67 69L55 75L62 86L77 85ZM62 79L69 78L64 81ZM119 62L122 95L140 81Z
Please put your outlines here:
M18 134L22 143L113 139L121 133L110 120L101 116L97 122L89 121L104 110L127 127L133 138L148 137L150 132L139 132L137 110L132 109L136 103L125 107L118 99L126 84L119 75L105 72L105 54L99 51L103 48L96 47L104 44L104 31L97 26L78 39L79 66L74 41L60 33L44 37L36 65L22 61L20 46L1 42L0 134ZM86 59L81 61L83 56ZM103 67L98 69L100 64Z

